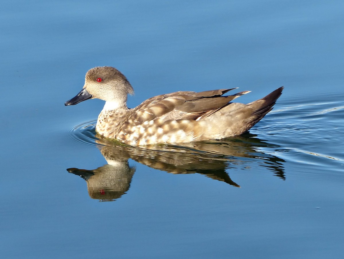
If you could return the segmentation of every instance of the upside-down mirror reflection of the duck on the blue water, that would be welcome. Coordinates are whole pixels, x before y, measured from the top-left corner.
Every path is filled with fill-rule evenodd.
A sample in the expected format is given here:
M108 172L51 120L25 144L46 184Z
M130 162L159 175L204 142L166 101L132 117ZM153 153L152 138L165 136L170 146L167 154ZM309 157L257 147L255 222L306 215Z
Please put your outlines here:
M278 146L254 137L246 133L226 140L134 147L97 134L95 141L107 164L94 170L69 168L67 171L86 180L89 196L100 201L114 201L129 190L136 170L129 166L129 158L154 169L173 174L203 174L236 187L240 186L230 179L226 169L246 169L258 159L260 165L284 179L284 160L259 151L262 147Z

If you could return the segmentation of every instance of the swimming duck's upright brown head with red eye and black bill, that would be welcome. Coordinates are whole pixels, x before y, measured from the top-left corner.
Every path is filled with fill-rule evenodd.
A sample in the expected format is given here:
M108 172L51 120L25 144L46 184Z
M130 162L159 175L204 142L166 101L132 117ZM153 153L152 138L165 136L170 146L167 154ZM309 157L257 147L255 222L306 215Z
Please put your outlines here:
M94 67L87 71L85 85L75 97L65 102L65 105L75 105L79 102L98 98L116 103L118 107L126 105L127 95L133 94L134 89L128 79L114 67Z

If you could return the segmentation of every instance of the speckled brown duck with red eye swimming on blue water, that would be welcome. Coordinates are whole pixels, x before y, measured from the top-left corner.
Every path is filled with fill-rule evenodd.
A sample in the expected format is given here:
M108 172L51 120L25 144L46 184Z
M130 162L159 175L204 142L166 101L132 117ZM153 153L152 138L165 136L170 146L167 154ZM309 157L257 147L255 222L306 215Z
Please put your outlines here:
M127 97L134 94L133 87L117 68L103 66L87 71L83 89L65 105L95 98L104 100L96 132L109 139L129 145L186 143L247 132L272 110L283 86L248 104L232 102L250 92L226 95L234 89L237 88L178 91L154 96L128 108Z

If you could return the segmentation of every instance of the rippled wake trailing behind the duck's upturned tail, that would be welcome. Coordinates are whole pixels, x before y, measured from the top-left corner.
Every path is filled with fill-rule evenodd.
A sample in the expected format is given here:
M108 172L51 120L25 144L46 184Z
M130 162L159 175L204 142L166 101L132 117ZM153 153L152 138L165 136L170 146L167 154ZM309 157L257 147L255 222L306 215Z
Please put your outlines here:
M342 170L343 97L287 97L251 133L280 145L279 157L304 164L308 172Z

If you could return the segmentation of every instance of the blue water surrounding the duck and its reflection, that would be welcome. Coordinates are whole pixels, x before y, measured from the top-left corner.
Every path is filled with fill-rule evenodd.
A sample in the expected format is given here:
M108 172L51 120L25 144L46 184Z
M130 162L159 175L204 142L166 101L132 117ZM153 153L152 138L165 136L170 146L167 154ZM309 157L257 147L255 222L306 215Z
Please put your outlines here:
M1 258L342 258L343 1L1 7ZM238 99L249 102L284 85L274 110L239 140L248 146L228 140L250 150L218 164L241 188L129 154L136 172L126 194L90 198L66 169L106 164L92 136L104 102L64 102L103 65L128 77L129 107L226 87L251 90Z

